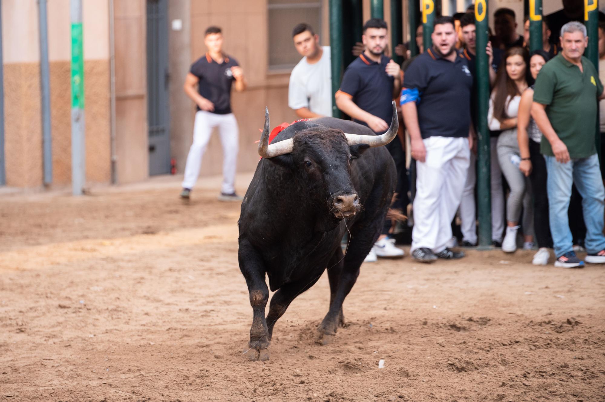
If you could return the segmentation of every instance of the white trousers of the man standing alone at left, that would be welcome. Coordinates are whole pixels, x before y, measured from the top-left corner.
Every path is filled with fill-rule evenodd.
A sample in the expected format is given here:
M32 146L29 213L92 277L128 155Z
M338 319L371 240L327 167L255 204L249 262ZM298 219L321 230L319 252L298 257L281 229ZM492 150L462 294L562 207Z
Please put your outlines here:
M193 126L193 144L189 148L187 164L185 165L185 179L183 188L193 188L200 175L201 158L206 152L210 141L212 129L218 127L218 133L223 144L223 183L221 193L234 193L235 170L237 168L237 152L239 131L237 120L233 113L217 115L215 113L198 110L195 113Z

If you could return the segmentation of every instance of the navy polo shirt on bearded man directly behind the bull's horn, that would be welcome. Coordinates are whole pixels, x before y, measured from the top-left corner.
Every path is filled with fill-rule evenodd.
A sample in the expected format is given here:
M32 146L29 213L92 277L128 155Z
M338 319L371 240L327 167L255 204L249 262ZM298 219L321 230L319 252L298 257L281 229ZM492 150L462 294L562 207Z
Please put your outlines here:
M378 116L387 124L393 118L393 81L394 77L385 69L391 59L381 56L380 63L373 62L360 54L348 65L342 76L341 88L337 94L352 98L353 103L365 112ZM367 126L364 121L353 119L356 123ZM379 134L382 134L380 132Z

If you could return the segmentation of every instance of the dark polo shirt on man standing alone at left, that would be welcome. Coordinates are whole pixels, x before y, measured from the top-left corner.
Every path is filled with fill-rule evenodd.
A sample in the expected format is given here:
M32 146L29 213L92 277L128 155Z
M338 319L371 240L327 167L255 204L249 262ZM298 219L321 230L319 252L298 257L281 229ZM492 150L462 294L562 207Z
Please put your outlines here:
M235 78L231 72L237 61L224 56L222 63L217 63L208 53L191 65L189 72L200 79L198 91L200 95L214 103L217 115L231 113L231 85ZM200 110L200 107L197 108Z

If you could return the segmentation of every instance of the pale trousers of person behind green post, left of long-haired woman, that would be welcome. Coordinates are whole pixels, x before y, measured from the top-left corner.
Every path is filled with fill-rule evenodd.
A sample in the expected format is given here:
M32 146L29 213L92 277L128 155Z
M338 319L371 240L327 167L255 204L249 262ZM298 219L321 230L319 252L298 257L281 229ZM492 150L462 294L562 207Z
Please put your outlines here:
M491 182L491 212L492 212L492 240L502 241L502 232L504 231L504 190L502 187L502 170L498 162L498 153L496 150L497 137L492 137L489 143L490 150L490 182ZM462 231L462 240L477 243L477 215L475 205L475 185L477 183L477 170L475 162L477 157L471 153L471 165L468 167L468 175L462 200L460 201L460 231Z

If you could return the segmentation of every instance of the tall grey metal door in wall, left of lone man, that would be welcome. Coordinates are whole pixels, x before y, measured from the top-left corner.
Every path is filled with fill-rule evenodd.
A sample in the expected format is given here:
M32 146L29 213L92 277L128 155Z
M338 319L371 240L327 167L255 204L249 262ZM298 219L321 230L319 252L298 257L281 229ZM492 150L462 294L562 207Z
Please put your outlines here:
M147 0L149 174L170 173L168 0Z

